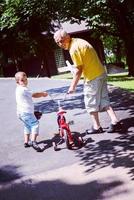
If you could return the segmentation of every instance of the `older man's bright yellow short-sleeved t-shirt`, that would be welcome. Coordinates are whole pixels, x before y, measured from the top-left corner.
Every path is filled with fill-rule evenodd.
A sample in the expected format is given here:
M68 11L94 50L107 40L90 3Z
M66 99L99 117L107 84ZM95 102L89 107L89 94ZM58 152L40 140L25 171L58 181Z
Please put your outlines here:
M95 49L85 40L72 38L69 53L76 67L82 67L85 81L93 80L105 72Z

